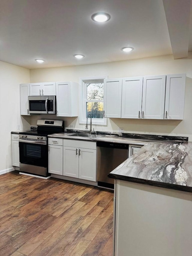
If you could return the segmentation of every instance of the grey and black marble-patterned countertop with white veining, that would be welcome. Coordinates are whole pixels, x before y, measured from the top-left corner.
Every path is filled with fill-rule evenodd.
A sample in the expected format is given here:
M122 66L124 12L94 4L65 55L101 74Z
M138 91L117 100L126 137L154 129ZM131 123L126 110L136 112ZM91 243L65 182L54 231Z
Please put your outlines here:
M19 132L21 131L11 133ZM48 137L144 145L139 152L120 164L108 176L113 179L192 192L192 142L188 142L187 137L112 132L98 132L97 134L101 135L99 138L73 136L79 132L83 133L68 130Z

